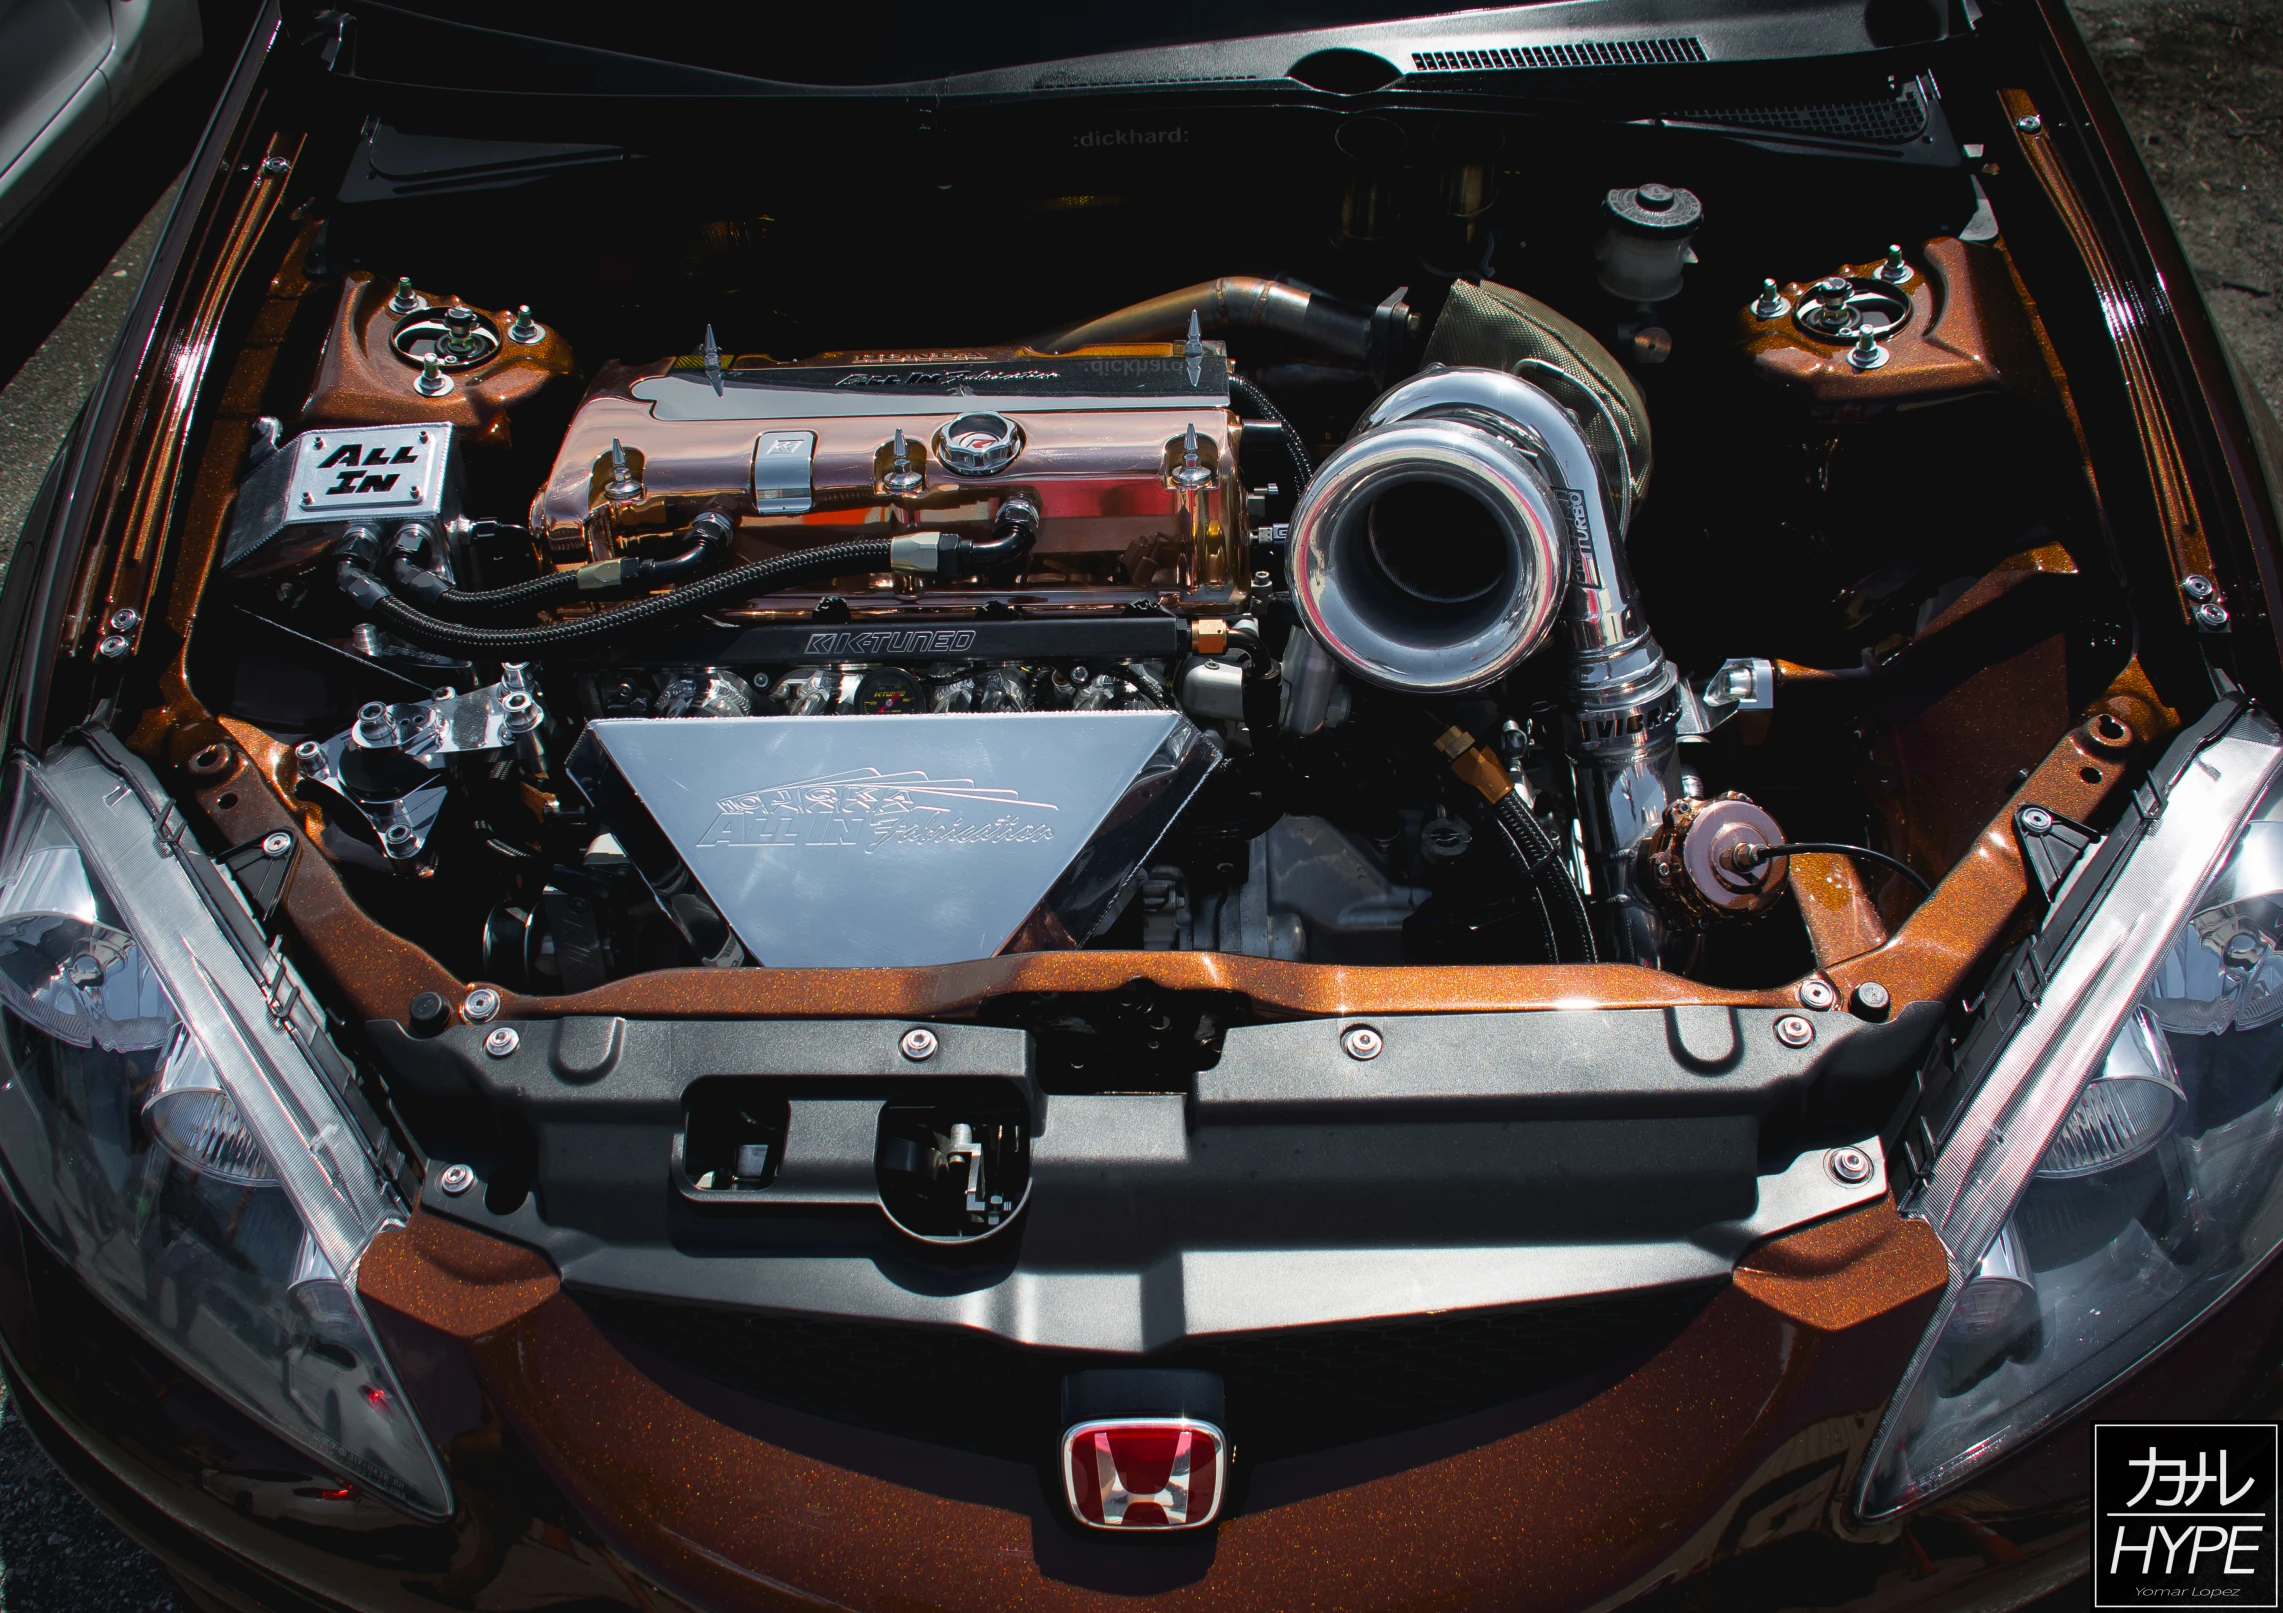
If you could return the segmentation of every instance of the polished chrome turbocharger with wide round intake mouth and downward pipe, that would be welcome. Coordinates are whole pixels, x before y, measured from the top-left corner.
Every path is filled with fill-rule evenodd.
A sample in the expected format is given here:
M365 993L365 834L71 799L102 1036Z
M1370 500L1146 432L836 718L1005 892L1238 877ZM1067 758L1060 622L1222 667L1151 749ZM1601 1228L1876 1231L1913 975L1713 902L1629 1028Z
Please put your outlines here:
M1308 484L1290 582L1333 659L1399 694L1484 689L1562 634L1594 926L1605 958L1655 965L1664 919L1635 853L1678 789L1680 675L1635 602L1628 488L1530 381L1427 370Z

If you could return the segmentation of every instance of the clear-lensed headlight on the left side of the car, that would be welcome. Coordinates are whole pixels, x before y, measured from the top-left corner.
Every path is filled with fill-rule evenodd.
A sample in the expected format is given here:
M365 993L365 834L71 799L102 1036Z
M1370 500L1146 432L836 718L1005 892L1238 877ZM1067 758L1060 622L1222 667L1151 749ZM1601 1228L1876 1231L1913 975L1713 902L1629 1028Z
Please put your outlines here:
M452 1490L356 1298L404 1221L370 1111L251 913L107 735L7 769L0 1161L185 1371L427 1515Z

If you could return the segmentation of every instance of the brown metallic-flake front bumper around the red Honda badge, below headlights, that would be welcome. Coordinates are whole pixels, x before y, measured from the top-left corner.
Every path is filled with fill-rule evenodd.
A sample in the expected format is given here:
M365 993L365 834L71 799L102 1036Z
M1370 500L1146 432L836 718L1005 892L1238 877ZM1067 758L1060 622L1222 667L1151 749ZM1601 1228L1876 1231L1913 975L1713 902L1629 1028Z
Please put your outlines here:
M215 1474L301 1458L9 1221L0 1344L27 1424L237 1606L1963 1608L2087 1567L2087 1419L1966 1497L1845 1535L1845 1483L1943 1287L1931 1234L1888 1205L1762 1243L1646 1357L1308 1458L1247 1467L1240 1446L1226 1519L1144 1542L1089 1538L1041 1467L685 1373L596 1326L537 1253L436 1216L384 1234L361 1289L445 1451L454 1519L249 1510ZM2167 1419L2262 1415L2278 1314L2269 1271L2098 1415L2151 1392Z

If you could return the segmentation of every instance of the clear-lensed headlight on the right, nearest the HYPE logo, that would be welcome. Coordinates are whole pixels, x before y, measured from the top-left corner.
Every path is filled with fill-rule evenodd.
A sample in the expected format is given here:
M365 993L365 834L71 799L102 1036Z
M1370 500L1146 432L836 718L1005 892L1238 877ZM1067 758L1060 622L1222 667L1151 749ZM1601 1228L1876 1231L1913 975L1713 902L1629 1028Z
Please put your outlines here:
M1950 1289L1865 1462L1872 1519L2100 1394L2283 1241L2283 735L2215 712L2059 894L1906 1134Z

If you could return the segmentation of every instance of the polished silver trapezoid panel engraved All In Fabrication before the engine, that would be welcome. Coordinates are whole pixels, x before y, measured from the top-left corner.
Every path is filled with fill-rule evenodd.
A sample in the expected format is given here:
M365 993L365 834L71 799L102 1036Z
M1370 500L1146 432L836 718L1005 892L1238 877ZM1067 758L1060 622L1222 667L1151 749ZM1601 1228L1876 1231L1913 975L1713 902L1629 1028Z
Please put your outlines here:
M571 776L749 956L881 967L1089 940L1219 762L1180 712L607 719Z

